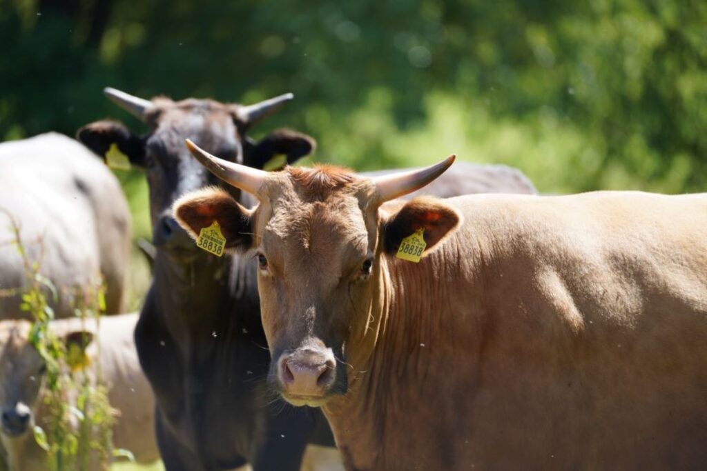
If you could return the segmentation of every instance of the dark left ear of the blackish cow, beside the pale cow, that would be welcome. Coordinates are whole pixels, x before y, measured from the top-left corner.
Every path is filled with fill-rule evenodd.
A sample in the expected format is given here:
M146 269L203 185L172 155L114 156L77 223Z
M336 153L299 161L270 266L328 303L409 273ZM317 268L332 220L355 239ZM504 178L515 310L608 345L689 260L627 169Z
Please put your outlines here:
M115 144L117 150L127 155L132 165L144 167L144 142L118 121L95 121L86 124L76 131L76 139L104 160L107 159L108 151Z

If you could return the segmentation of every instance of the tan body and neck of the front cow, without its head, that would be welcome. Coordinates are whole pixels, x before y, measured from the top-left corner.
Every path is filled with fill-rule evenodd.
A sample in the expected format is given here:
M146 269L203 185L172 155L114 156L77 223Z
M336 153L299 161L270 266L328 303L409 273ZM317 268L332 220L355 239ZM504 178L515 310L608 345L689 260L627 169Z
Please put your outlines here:
M325 406L350 469L706 463L707 196L448 203L462 226L387 263L375 348Z

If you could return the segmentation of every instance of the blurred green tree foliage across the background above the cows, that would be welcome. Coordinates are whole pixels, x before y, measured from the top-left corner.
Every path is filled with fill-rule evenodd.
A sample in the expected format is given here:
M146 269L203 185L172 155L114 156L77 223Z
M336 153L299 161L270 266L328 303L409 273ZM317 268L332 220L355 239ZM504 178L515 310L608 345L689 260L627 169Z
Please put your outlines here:
M706 24L697 0L11 0L0 136L108 116L144 129L105 85L243 102L291 90L269 125L312 133L318 160L454 151L517 165L542 191L704 190Z

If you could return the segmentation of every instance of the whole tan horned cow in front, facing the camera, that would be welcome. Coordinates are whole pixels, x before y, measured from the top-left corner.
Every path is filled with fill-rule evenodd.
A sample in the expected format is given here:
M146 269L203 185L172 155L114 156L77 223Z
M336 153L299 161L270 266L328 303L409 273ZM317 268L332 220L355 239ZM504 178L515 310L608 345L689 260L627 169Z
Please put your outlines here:
M707 194L385 201L452 160L363 179L264 174L185 196L254 247L271 383L321 406L349 469L697 469L707 463ZM420 263L395 257L423 229Z

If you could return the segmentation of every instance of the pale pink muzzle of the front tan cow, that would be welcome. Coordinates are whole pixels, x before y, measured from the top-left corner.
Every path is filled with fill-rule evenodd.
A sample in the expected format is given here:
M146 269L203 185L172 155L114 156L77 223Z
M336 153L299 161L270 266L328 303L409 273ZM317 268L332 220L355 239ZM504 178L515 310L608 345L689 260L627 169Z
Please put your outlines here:
M331 351L296 350L280 358L278 378L287 395L320 398L334 384L336 366Z

